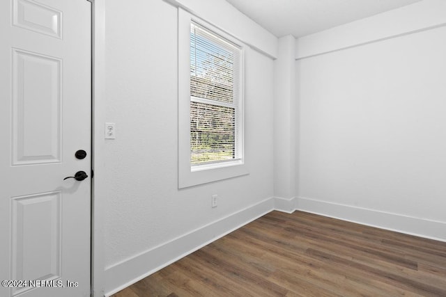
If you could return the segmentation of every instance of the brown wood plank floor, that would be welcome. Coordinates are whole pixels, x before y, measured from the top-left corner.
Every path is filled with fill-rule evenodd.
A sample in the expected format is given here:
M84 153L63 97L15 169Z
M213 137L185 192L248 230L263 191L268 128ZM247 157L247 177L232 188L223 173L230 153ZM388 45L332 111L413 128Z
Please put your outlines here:
M446 243L273 211L114 295L146 296L446 296Z

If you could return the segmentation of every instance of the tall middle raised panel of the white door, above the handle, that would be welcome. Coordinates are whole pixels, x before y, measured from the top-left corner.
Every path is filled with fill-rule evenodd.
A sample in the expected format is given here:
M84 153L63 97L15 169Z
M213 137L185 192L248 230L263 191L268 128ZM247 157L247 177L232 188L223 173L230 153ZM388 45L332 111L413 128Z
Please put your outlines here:
M13 166L61 161L61 67L13 49Z

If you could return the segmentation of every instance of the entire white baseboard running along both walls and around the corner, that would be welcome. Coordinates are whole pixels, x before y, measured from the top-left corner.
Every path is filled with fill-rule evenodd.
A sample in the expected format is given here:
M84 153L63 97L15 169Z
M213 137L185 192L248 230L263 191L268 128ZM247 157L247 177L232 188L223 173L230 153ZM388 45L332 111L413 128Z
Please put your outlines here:
M284 211L289 214L295 210L306 211L385 230L446 241L445 222L390 214L309 198L273 197L105 268L105 291L107 292L105 296L111 296L121 291L130 284L146 278L146 276L273 210Z

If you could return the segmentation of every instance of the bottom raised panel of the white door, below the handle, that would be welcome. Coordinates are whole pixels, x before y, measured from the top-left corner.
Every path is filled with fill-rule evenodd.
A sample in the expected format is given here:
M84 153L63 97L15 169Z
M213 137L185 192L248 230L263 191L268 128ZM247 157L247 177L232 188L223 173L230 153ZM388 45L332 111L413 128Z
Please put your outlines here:
M61 277L62 193L41 193L12 199L13 280L55 280ZM33 289L13 288L13 296Z

